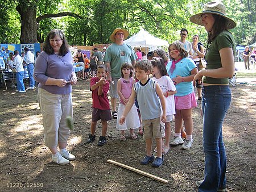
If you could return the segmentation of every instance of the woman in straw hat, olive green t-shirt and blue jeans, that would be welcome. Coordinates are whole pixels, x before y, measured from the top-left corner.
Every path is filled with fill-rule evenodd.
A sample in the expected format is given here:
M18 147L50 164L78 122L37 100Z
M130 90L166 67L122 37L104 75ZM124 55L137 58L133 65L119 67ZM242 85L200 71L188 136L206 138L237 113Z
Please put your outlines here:
M229 77L234 73L236 45L228 31L236 23L226 16L220 2L209 2L203 12L193 15L191 22L208 31L207 67L194 77L203 82L203 145L205 153L204 180L196 183L199 191L226 191L226 153L222 139L222 123L231 102Z

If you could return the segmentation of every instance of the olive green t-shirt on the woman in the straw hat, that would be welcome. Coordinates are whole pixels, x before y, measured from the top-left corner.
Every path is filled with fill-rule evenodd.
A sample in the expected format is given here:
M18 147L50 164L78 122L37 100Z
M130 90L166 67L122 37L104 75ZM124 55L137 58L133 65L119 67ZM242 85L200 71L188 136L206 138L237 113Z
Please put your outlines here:
M234 37L229 31L222 31L216 36L210 44L208 51L205 55L207 67L205 69L218 69L221 68L220 49L230 47L233 49L233 55L236 51L236 44ZM229 78L212 78L203 77L205 84L229 84Z

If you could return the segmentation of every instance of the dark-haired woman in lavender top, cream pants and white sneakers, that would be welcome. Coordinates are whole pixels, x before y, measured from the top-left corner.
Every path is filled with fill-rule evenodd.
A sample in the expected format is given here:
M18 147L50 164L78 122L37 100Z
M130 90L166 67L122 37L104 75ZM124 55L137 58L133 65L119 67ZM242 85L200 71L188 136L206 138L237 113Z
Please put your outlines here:
M44 141L52 152L52 161L69 164L76 157L66 149L70 133L66 118L73 115L71 85L77 80L69 45L61 30L51 30L47 35L43 52L36 59L34 78L39 82Z

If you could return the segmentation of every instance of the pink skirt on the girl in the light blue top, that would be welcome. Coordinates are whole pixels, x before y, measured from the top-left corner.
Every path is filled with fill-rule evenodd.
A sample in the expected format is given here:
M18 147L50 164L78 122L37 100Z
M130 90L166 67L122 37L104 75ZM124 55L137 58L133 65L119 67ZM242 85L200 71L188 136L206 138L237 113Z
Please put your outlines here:
M174 95L174 99L175 99L176 110L183 110L183 109L197 107L196 95L194 92L185 96Z

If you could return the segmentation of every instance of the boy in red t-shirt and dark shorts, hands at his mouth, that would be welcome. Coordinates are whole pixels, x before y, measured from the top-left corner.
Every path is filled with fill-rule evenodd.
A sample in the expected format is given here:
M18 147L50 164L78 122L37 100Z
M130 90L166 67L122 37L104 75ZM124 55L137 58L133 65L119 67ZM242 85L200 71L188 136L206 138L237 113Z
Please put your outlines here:
M102 132L98 146L106 143L106 131L108 130L108 120L112 119L110 105L108 99L109 82L106 81L106 73L108 72L106 65L99 65L97 69L97 77L90 79L90 90L92 91L92 123L90 124L90 134L87 143L95 140L95 131L98 120L101 119Z

